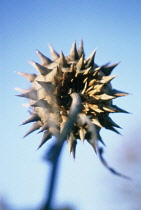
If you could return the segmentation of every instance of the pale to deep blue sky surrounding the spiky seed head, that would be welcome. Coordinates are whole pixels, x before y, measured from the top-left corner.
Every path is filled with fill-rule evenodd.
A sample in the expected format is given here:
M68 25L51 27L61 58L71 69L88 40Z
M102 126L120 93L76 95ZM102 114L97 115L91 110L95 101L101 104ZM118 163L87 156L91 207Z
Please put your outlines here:
M131 95L116 99L115 104L132 114L112 115L123 128L121 136L105 129L101 135L109 164L133 181L106 170L87 142L78 144L75 161L65 145L54 204L70 205L75 210L140 209L132 202L137 193L141 195L137 187L141 183L140 151L136 151L141 146L141 1L1 0L0 196L14 210L35 209L42 204L50 169L43 157L51 143L36 151L42 135L33 133L22 139L30 125L18 125L28 112L21 105L26 100L15 97L14 88L28 88L30 84L14 71L36 72L28 63L40 61L35 49L49 57L51 43L56 51L68 55L72 43L76 40L79 44L81 39L86 57L97 48L98 65L120 62L113 72L119 76L112 84Z

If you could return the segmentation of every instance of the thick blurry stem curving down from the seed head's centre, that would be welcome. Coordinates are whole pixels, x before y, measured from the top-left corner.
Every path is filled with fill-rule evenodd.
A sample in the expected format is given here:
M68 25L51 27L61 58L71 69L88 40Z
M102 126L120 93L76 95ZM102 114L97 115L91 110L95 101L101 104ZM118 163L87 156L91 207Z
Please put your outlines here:
M59 156L62 151L62 147L64 141L67 139L68 134L73 128L74 122L77 119L77 115L80 113L81 110L81 100L77 93L71 94L72 97L72 104L70 107L70 113L68 117L68 121L66 122L62 133L58 137L57 142L51 147L51 149L47 153L47 159L52 164L52 170L50 174L50 185L48 190L48 197L47 201L44 204L44 207L41 210L52 210L52 200L55 190L55 183L57 178L57 170L58 170L58 163L59 163Z

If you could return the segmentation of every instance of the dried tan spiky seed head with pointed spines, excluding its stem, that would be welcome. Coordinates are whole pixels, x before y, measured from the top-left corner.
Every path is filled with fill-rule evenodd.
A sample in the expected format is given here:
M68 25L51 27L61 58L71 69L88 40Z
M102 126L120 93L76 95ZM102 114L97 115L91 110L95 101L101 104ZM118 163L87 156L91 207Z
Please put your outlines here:
M44 132L39 147L52 135L58 137L68 119L72 103L71 94L77 93L81 98L82 107L66 140L74 156L77 139L82 142L86 139L96 150L96 141L103 142L99 134L102 127L119 133L116 128L120 126L109 114L127 113L113 105L113 99L127 95L111 86L111 80L116 75L110 74L118 63L98 66L94 62L96 51L85 59L82 41L78 50L76 43L73 43L67 57L63 52L59 55L51 45L49 48L52 60L37 50L42 63L30 62L39 74L18 72L32 83L30 90L17 89L22 92L20 97L29 99L29 106L33 109L30 117L22 123L24 125L34 122L25 136L37 129Z

